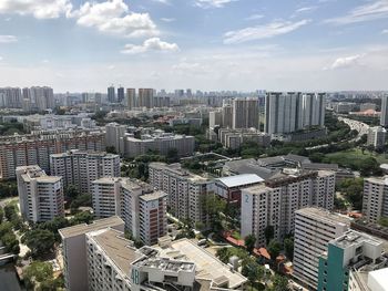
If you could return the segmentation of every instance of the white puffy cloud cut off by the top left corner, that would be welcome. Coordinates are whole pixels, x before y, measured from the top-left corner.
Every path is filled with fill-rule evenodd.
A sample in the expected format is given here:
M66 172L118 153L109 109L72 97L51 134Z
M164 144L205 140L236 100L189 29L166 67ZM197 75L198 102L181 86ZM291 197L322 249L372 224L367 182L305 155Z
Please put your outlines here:
M37 19L59 18L71 11L70 0L1 0L0 13L33 15Z

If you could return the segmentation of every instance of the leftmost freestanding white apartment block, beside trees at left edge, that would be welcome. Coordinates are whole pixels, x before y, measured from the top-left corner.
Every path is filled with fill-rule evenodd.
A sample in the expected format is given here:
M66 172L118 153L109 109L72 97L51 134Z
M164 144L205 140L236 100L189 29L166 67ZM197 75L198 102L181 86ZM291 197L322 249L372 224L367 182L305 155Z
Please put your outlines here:
M48 176L39 166L18 167L16 173L24 220L42 222L64 216L61 177Z

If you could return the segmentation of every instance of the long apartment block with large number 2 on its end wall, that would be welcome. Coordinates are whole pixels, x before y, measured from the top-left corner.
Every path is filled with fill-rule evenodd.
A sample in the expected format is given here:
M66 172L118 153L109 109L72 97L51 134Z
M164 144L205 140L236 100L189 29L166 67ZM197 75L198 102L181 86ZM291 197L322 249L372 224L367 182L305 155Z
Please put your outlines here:
M328 170L292 173L276 176L262 185L242 190L242 237L254 235L257 246L265 246L265 229L274 228L282 241L294 232L295 211L316 206L333 209L335 173Z

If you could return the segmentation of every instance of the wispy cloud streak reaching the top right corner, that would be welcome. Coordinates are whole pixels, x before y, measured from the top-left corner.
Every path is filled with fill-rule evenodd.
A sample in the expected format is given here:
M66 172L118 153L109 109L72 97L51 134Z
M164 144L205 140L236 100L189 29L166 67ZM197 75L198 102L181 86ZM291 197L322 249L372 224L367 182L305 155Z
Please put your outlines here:
M372 3L356 7L346 15L327 19L326 23L349 24L388 18L388 0L378 0Z

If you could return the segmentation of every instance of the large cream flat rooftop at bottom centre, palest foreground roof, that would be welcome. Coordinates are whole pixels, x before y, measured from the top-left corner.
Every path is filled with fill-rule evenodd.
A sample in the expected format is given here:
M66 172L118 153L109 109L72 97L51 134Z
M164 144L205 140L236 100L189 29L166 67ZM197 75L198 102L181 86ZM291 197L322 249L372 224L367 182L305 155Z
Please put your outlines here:
M195 263L195 278L197 280L207 279L217 282L226 277L231 289L237 288L247 281L244 276L238 272L232 272L228 266L188 239L172 241L170 249L160 250L161 256L169 256L169 252L172 250L180 251L188 261Z

